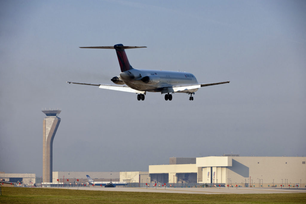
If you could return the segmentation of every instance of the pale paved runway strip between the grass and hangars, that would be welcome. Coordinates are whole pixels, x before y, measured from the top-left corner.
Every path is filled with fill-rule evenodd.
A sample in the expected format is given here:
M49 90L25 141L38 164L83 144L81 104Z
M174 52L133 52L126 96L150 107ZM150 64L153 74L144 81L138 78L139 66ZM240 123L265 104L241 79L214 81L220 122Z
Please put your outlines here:
M65 188L67 189L67 188ZM69 187L77 190L77 187ZM305 188L136 188L136 187L79 187L79 190L89 191L126 191L126 192L151 192L151 193L187 193L187 194L267 194L267 193L306 193Z

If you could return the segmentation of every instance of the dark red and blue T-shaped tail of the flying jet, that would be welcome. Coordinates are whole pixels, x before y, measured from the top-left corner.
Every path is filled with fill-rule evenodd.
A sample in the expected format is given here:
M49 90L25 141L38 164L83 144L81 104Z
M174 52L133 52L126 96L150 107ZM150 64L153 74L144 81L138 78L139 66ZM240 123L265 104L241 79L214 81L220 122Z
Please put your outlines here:
M143 48L146 46L123 46L122 44L117 44L114 46L98 46L98 47L80 47L80 48L98 48L98 49L115 49L120 65L121 72L133 69L130 65L128 57L126 56L125 49L132 48Z

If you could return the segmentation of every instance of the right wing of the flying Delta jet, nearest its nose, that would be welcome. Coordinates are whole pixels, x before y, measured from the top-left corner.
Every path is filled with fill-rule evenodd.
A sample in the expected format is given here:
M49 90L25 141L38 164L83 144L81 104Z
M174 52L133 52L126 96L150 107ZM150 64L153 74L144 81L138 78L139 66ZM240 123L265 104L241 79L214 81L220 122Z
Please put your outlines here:
M194 84L194 85L185 85L185 86L172 86L165 87L162 89L161 93L170 93L170 92L179 92L179 93L192 93L197 91L200 87L218 85L222 83L230 83L230 81L217 82L217 83L202 83L202 84Z

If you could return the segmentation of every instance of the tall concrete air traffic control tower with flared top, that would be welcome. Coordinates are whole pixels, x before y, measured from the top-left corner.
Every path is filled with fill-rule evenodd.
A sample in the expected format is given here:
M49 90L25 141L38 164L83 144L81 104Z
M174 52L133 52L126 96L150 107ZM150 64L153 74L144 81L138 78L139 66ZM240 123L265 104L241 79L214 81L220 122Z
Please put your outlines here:
M61 110L42 110L43 119L43 182L52 182L52 144L61 118Z

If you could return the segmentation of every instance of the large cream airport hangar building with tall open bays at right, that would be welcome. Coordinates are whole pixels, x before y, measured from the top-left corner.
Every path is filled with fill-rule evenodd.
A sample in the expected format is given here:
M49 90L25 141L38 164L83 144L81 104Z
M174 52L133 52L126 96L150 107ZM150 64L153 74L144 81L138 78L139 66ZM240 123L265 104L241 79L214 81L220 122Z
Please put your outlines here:
M306 185L304 157L240 157L239 154L170 158L170 165L149 165L150 182L222 184L243 187Z

